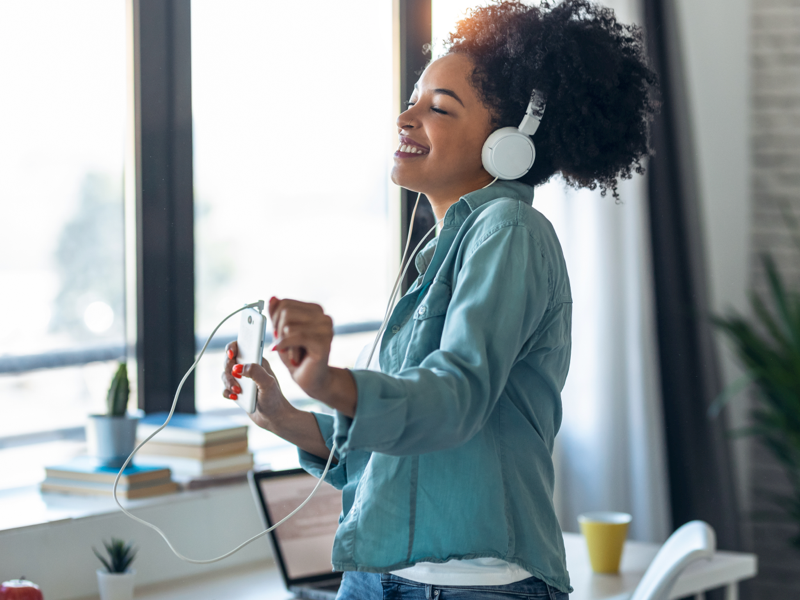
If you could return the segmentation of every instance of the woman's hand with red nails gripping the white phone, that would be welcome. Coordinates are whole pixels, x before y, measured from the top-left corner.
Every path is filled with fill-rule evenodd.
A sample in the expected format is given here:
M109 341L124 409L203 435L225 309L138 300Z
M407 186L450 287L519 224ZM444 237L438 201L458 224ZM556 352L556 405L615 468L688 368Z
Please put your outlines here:
M255 363L241 365L241 373L237 370L237 373L234 374L233 367L237 364L237 352L238 346L235 341L225 347L225 366L222 371L222 383L225 389L222 391L222 395L230 400L236 400L237 394L242 391L237 379L241 377L252 379L258 388L258 394L256 410L250 415L250 419L259 427L272 430L272 423L279 419L281 412L287 407L291 407L291 404L281 392L275 373L272 372L266 358L261 358L260 365Z

